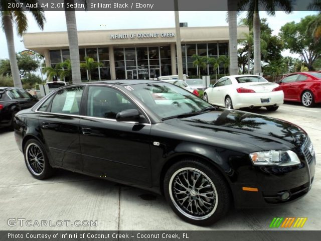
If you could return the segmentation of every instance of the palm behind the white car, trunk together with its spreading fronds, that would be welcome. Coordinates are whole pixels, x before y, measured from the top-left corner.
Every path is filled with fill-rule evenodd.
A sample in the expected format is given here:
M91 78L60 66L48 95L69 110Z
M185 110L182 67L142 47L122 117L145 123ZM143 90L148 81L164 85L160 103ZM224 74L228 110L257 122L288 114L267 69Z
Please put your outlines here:
M243 0L239 2L239 11L248 11L247 20L253 23L254 73L261 73L261 26L259 5L264 6L269 16L275 16L275 9L289 14L292 12L291 0Z

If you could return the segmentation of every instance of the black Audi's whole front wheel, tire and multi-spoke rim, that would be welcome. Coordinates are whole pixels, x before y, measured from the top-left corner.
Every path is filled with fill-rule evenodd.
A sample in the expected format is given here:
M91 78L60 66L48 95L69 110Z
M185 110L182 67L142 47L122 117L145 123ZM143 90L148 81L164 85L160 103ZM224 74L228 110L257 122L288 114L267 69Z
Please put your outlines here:
M199 187L203 186L207 188L201 188L200 192ZM179 217L200 226L221 219L232 201L230 188L221 173L197 159L184 159L170 167L164 179L164 193ZM180 202L180 199L185 200Z

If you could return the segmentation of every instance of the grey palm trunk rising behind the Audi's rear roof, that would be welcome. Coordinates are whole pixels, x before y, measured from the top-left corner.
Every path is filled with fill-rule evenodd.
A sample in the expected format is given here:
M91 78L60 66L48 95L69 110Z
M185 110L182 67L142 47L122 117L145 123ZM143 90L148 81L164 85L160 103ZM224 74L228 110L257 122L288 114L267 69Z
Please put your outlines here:
M74 1L65 0L66 3L73 3ZM77 36L77 24L75 11L65 11L68 41L69 41L69 52L71 62L71 76L73 83L81 83L80 74L80 61L79 61L79 48L78 48L78 36Z

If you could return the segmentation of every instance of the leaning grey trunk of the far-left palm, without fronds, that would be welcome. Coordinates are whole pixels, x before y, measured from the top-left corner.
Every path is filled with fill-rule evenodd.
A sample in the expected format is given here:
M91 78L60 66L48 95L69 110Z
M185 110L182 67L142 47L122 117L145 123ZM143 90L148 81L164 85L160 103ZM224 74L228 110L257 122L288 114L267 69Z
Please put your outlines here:
M20 79L20 72L18 68L17 56L15 51L15 42L14 42L14 31L12 26L11 17L8 14L3 15L3 25L5 30L5 35L7 39L10 68L12 77L14 79L15 87L22 88L22 83Z

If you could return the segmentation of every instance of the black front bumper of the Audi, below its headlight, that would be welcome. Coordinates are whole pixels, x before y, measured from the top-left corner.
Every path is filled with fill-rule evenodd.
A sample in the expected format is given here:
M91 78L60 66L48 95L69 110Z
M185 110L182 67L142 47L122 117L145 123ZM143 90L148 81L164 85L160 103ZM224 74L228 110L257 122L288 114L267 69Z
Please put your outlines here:
M306 158L298 154L301 164L294 167L251 167L245 175L254 182L232 185L236 208L261 208L290 203L303 197L311 189L315 172L315 155ZM248 180L251 178L248 178ZM246 179L244 179L246 180ZM258 188L258 192L243 191L242 187ZM282 200L284 192L289 198Z

